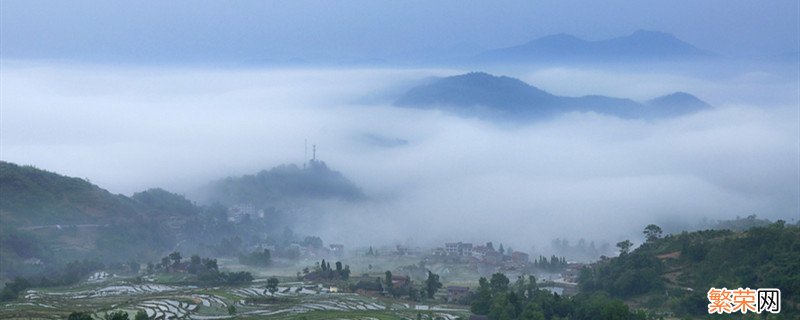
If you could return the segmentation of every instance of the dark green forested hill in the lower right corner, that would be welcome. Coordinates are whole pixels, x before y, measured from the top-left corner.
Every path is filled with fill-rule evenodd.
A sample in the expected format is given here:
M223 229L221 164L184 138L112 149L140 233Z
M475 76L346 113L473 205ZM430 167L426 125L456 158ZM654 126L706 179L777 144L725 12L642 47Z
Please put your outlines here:
M800 315L797 224L778 221L743 232L705 230L663 238L650 232L649 238L633 252L584 268L581 290L677 315L708 315L711 287L778 288L781 313Z

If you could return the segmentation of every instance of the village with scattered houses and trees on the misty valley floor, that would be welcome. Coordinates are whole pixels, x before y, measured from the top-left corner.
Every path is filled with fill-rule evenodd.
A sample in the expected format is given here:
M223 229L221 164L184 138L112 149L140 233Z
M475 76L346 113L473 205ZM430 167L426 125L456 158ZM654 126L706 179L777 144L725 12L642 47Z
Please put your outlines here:
M314 238L318 239L318 238ZM432 273L439 277L443 290L435 297L443 302L467 305L480 277L503 273L509 278L533 276L541 289L560 295L577 292L577 278L583 263L567 261L564 257L539 256L531 259L525 252L495 248L492 242L475 245L469 242L447 242L434 248L404 245L359 247L346 250L342 244L322 246L320 241L292 243L298 253L294 266L297 281L323 286L326 292L350 292L363 296L386 297L419 302L415 286L424 284ZM258 245L249 250L276 250L273 245ZM326 262L326 259L328 262ZM347 276L321 276L322 272L346 269ZM326 266L327 264L327 266ZM345 264L345 265L342 265ZM297 269L291 269L292 271ZM274 268L267 268L273 270ZM290 275L284 271L283 274ZM391 274L390 278L386 278ZM389 280L390 279L390 280ZM387 285L391 283L391 285Z

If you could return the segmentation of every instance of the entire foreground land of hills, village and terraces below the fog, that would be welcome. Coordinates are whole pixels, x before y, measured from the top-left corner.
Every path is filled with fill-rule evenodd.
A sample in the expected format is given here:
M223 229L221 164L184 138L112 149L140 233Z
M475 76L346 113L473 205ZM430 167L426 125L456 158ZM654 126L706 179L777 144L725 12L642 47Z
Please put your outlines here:
M371 200L317 159L213 181L209 205L8 162L0 179L4 317L650 319L701 315L704 286L742 282L784 288L791 314L800 281L800 227L754 215L667 235L650 224L633 250L556 238L532 256L489 234L327 243L293 231L313 219L304 203Z

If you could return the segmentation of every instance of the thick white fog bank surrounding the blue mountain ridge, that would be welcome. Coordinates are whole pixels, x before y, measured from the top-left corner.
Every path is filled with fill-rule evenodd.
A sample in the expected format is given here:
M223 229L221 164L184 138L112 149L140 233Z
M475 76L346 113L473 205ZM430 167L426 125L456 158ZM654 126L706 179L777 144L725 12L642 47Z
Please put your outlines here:
M1 156L114 193L191 197L211 180L300 164L307 139L308 157L316 145L375 199L331 204L298 227L347 245L493 240L526 250L555 237L635 239L648 223L798 217L797 79L504 73L562 95L686 91L715 106L661 121L569 114L518 126L391 106L415 81L466 71L6 63Z

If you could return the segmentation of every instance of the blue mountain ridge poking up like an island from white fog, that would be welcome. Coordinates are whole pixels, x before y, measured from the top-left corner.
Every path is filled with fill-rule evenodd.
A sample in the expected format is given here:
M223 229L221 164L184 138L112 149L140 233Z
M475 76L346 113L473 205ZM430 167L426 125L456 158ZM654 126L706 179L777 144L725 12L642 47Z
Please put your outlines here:
M531 121L568 112L596 112L620 118L675 117L711 106L697 97L675 92L646 102L589 95L562 97L519 79L473 72L434 80L411 88L396 106L441 109L489 120Z

